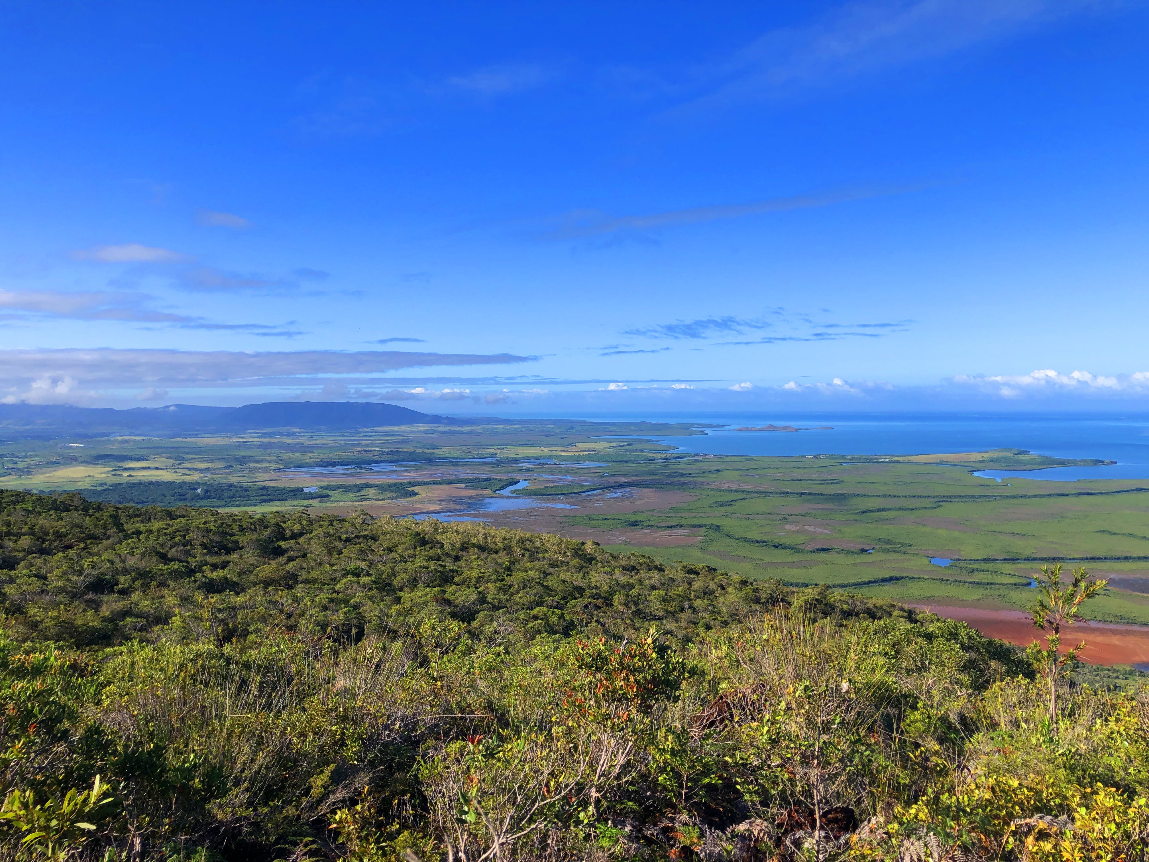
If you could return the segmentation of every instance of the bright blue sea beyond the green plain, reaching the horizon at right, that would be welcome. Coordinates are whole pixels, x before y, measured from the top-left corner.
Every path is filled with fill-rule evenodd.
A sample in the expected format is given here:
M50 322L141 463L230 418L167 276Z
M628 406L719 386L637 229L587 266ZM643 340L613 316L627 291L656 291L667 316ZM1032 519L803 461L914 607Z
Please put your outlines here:
M586 416L585 418L607 418ZM619 418L619 417L611 417ZM627 417L638 418L638 417ZM650 422L717 425L697 437L657 438L681 452L715 455L926 455L1028 449L1056 457L1116 461L1109 467L1061 467L1013 472L986 470L992 478L1149 479L1149 415L1001 416L940 414L694 414L647 415ZM738 431L766 424L832 431Z

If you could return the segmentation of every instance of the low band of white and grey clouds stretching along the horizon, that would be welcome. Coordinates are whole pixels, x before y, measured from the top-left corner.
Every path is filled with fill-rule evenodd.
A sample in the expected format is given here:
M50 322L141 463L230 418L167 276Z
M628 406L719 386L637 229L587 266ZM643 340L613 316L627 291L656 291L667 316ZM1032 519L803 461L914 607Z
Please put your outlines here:
M415 340L415 339L380 339ZM40 349L0 351L0 403L124 407L132 402L247 403L253 400L457 402L456 411L578 409L701 410L832 408L961 409L987 405L1127 408L1149 399L1149 371L1112 376L1040 369L1027 375L957 375L932 385L833 377L799 383L594 380L509 375L410 377L445 367L523 365L538 357L400 351ZM408 376L395 372L406 371ZM445 408L439 408L445 409Z

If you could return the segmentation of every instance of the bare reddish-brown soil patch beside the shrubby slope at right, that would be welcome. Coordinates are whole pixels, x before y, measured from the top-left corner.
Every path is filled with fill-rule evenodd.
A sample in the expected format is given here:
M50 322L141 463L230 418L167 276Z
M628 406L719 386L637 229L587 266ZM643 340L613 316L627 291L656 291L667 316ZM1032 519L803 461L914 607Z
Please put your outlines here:
M1028 646L1041 636L1041 632L1033 628L1030 615L1021 610L984 610L944 606L926 609L938 616L969 623L988 638L997 638L1018 646ZM1081 651L1081 661L1088 664L1149 663L1149 626L1079 623L1062 631L1062 642L1066 649L1082 640L1086 647Z

